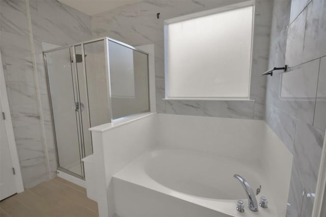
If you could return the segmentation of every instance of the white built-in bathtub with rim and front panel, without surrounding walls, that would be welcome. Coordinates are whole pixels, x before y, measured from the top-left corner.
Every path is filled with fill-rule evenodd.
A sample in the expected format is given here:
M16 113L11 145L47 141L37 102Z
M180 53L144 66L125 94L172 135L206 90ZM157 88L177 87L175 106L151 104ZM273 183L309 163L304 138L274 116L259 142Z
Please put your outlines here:
M254 192L269 200L258 212L238 180L243 176ZM246 160L197 151L160 149L142 154L113 177L116 213L125 217L278 216L259 165ZM236 211L242 199L245 212Z

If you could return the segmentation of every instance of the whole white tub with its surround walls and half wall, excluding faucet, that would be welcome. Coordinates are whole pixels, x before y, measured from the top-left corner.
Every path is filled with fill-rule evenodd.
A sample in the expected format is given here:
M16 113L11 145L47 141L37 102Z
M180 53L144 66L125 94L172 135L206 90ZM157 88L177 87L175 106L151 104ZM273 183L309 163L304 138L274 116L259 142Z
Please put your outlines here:
M264 121L152 113L91 130L100 216L285 216L292 154ZM249 210L235 173L268 209Z

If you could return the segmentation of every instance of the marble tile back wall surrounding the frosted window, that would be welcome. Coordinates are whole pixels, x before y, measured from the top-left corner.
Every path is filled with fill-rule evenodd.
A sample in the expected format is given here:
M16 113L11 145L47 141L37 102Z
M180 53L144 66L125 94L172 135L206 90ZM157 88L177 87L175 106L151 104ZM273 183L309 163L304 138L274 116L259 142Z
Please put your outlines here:
M164 20L239 1L143 1L92 16L93 38L110 37L130 45L155 45L156 106L159 113L263 119L273 1L256 1L250 98L253 102L163 101L165 98ZM160 18L156 18L160 13Z

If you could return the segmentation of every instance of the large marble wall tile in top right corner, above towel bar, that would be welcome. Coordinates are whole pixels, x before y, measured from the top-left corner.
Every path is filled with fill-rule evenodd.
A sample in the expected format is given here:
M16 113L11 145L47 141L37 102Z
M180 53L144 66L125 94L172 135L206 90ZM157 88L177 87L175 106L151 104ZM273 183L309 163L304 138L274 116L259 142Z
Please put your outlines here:
M307 7L303 61L326 55L326 1L313 0Z

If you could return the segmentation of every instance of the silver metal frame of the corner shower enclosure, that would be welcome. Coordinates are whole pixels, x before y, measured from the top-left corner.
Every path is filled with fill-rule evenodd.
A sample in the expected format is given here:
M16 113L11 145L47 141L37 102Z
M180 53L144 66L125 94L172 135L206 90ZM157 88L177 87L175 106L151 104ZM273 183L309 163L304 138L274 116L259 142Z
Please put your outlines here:
M85 62L85 49L84 49L84 45L85 44L90 44L90 43L94 43L94 42L99 42L99 41L103 41L103 46L104 46L104 55L105 55L105 71L106 71L106 82L107 82L107 97L108 97L108 114L109 114L109 122L113 122L113 112L112 112L112 92L111 92L111 74L110 74L110 53L109 53L109 49L108 49L108 41L112 41L115 42L117 44L120 44L124 47L130 48L132 50L141 52L145 55L147 55L147 76L148 76L148 110L147 111L143 111L141 113L144 112L149 112L150 111L150 89L149 89L149 59L148 59L148 53L144 52L140 49L137 49L135 47L132 47L128 44L125 44L123 42L108 38L108 37L104 37L104 38L99 38L99 39L93 39L93 40L89 40L89 41L85 41L85 42L81 42L81 43L77 43L77 44L73 44L73 45L67 45L67 46L62 46L62 47L58 47L58 48L54 48L54 49L50 49L50 50L46 50L43 51L43 60L44 60L44 66L45 66L45 74L46 74L46 83L47 83L47 90L48 90L48 99L49 99L49 104L50 104L50 112L51 112L51 121L52 121L52 129L53 129L53 138L55 141L55 149L56 149L56 157L57 157L57 167L58 170L63 171L65 173L68 173L72 176L78 177L80 179L85 180L85 171L84 171L84 163L82 161L83 158L85 158L85 143L84 143L84 131L83 131L83 119L82 119L82 111L80 109L78 109L78 118L77 118L77 128L78 128L78 139L79 139L79 154L81 154L80 157L80 161L81 161L81 165L82 165L82 176L73 173L63 167L60 166L60 162L59 162L59 153L58 153L58 145L57 145L57 137L56 137L56 130L55 130L55 119L53 117L53 108L52 108L52 100L51 100L51 91L50 91L50 84L49 84L49 76L48 76L48 64L47 64L47 53L50 53L52 51L57 51L57 50L62 50L62 49L71 49L72 50L72 58L73 58L73 65L71 65L71 73L74 74L74 78L72 79L73 82L75 82L75 84L73 84L73 89L76 90L76 92L74 92L74 97L75 97L75 101L77 99L78 105L80 105L80 92L79 92L79 83L78 83L78 74L77 74L77 63L76 63L76 52L75 52L75 48L76 46L80 46L82 49L82 60L83 60L83 76L84 76L84 80L85 80L85 87L87 89L87 73L86 73L86 62ZM74 69L72 69L74 68ZM74 71L74 72L73 72ZM75 81L74 81L75 80ZM76 98L77 97L77 98ZM88 111L88 116L90 118L90 111L89 111L89 98L88 98L88 94L86 96L86 101L87 101L87 111ZM79 106L80 108L80 106ZM139 113L137 113L139 114ZM137 114L132 114L132 115L128 115L128 117L133 116L133 115L137 115ZM118 118L121 119L121 118ZM91 120L91 119L89 119ZM91 137L92 138L92 137ZM93 144L92 144L92 148L93 148Z

